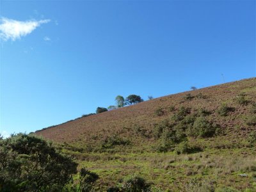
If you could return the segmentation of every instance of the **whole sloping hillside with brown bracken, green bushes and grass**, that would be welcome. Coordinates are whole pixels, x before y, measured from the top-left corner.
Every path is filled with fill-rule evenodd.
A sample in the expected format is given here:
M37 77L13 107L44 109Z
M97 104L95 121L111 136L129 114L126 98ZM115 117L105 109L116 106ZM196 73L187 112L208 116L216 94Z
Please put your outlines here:
M256 191L255 102L256 79L244 79L77 118L36 134L98 173L100 191L134 173L163 190Z

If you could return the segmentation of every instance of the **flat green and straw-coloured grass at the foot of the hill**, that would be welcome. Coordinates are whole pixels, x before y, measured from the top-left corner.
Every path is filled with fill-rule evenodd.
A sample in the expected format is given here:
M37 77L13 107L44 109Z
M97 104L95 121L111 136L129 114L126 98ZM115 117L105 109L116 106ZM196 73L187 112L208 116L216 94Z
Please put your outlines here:
M163 191L233 189L256 191L256 149L209 149L196 154L175 152L119 152L111 154L66 151L80 167L99 174L99 191L106 191L127 175L140 175ZM245 174L246 177L240 176ZM232 190L231 190L232 191Z

